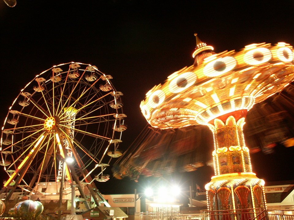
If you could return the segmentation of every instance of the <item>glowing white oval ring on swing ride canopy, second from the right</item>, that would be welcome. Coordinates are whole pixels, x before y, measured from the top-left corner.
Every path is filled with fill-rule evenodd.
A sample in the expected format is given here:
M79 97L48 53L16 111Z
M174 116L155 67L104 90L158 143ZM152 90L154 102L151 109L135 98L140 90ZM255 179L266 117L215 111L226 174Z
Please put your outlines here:
M268 62L272 58L272 53L265 47L249 50L244 54L243 60L249 65L258 65Z

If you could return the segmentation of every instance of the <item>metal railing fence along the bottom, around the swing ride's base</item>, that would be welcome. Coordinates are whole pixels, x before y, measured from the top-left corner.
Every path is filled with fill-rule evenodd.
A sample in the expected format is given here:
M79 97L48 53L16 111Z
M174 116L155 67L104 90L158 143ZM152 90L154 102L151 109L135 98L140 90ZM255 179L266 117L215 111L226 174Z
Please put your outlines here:
M234 209L219 211L141 212L135 220L294 220L294 210L288 209Z

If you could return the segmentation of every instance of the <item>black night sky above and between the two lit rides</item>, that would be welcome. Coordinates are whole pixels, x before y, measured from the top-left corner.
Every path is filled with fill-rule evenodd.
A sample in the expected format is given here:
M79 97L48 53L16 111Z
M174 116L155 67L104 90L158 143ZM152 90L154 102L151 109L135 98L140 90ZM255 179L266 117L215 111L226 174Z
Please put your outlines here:
M240 2L17 0L9 8L0 0L0 121L35 75L70 61L92 64L112 75L124 94L127 148L146 126L139 108L146 92L193 64L195 32L217 53L251 43L294 45L293 1ZM293 159L293 149L277 146L273 154L253 155L252 163L259 178L292 180ZM210 179L207 172L189 175ZM97 185L102 193L125 193L142 182L111 179Z

